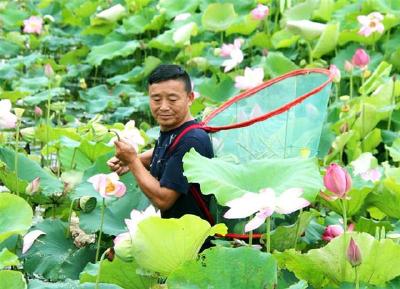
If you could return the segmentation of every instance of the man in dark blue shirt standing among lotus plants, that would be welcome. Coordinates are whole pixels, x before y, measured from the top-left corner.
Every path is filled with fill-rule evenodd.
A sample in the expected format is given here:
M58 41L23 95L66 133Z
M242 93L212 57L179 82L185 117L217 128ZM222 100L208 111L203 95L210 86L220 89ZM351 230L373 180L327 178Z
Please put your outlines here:
M191 148L213 157L208 134L200 128L189 130L168 151L174 138L196 123L189 110L194 100L189 75L177 65L160 65L148 78L148 92L151 113L161 130L155 148L138 155L128 143L116 141L116 154L108 165L118 174L130 171L163 218L194 214L206 219L183 175L182 158ZM208 205L209 198L203 195L201 198Z

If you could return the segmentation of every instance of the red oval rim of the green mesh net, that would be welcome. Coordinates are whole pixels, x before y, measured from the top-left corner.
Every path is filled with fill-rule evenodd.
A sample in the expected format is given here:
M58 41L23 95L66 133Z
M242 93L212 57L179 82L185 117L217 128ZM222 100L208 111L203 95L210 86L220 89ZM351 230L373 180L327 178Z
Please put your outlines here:
M224 111L226 108L228 108L229 106L231 106L232 104L234 104L235 102L244 99L246 97L249 97L251 95L253 95L254 93L268 87L271 86L281 80L284 80L286 78L292 77L292 76L297 76L297 75L304 75L304 74L310 74L310 73L321 73L321 74L325 74L328 76L328 79L323 82L321 85L317 86L316 88L310 90L309 92L297 97L296 99L292 100L291 102L288 102L287 104L273 110L270 111L266 114L263 114L261 116L246 120L246 121L242 121L242 122L238 122L238 123L234 123L234 124L229 124L229 125L223 125L223 126L208 126L207 123L212 120L217 114L219 114L220 112ZM205 129L206 131L209 132L217 132L220 130L228 130L228 129L233 129L233 128L240 128L240 127L246 127L249 125L252 125L256 122L259 121L263 121L266 120L268 118L271 118L275 115L281 114L287 110L289 110L290 108L292 108L293 106L301 103L302 101L304 101L305 99L307 99L308 97L310 97L313 94L316 94L318 92L320 92L325 86L327 86L329 83L332 82L334 78L334 75L328 70L328 69L324 69L324 68L303 68L303 69L297 69L297 70L293 70L289 73L283 74L281 76L278 76L276 78L270 79L265 81L264 83L246 90L240 94L238 94L237 96L231 98L230 100L226 101L225 103L223 103L220 107L218 107L216 110L214 110L212 113L210 113L208 116L206 116L206 118L202 121L202 125L203 125L203 129Z

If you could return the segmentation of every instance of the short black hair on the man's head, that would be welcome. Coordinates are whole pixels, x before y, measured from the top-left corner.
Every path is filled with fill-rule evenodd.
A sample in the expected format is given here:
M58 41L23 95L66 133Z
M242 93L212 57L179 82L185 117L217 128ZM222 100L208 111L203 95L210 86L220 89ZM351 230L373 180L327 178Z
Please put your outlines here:
M185 84L186 92L192 91L192 83L189 74L179 65L176 64L160 64L149 75L147 79L148 86L153 83L159 83L167 80L180 80Z

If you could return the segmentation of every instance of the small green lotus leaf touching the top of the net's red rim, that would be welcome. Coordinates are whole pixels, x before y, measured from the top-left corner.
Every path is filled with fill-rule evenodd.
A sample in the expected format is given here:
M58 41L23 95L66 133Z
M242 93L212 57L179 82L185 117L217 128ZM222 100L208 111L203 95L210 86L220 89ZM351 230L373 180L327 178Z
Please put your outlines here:
M297 65L281 52L269 52L263 63L264 71L271 77L277 77L294 69Z

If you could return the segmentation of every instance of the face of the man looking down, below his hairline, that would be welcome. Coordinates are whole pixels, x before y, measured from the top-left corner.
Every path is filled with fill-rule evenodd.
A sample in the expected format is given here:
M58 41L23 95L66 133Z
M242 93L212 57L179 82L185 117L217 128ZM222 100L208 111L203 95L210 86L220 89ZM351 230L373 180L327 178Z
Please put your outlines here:
M186 92L180 80L167 80L149 86L150 110L162 131L174 129L190 119L193 92Z

